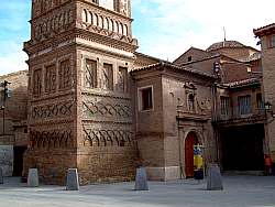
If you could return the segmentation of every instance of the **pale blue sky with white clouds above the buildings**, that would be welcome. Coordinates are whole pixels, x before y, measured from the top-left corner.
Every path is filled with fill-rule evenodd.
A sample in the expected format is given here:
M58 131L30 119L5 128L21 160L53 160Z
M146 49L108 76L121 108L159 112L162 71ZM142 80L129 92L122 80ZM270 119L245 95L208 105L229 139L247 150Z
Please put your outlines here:
M132 0L139 52L173 62L190 46L239 41L256 47L253 29L275 22L275 0ZM31 0L1 0L0 75L28 69ZM260 48L258 48L260 50Z

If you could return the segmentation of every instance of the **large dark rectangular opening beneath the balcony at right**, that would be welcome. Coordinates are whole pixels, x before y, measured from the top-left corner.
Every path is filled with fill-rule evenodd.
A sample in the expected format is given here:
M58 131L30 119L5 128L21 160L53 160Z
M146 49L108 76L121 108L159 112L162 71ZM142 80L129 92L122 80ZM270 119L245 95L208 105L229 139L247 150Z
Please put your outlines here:
M223 171L264 170L264 126L230 127L221 130Z

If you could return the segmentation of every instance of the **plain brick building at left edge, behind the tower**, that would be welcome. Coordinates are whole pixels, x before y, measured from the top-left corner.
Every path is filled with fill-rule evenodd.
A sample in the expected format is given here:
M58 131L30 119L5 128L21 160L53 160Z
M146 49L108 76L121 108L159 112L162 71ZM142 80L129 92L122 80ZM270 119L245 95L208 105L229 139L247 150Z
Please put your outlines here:
M0 166L3 167L4 176L12 176L14 146L28 145L28 72L22 70L0 76L0 83L4 80L11 83L8 88L12 90L12 94L6 99L6 103L3 102L3 91L0 96L0 107L6 105L4 109L0 111Z

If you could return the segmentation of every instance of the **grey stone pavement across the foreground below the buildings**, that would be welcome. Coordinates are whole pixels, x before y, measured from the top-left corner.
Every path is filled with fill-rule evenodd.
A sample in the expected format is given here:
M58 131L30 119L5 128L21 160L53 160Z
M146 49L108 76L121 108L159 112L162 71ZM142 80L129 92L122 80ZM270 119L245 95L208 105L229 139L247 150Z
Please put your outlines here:
M150 192L135 192L134 183L66 187L26 187L6 178L0 185L0 207L275 207L275 177L226 176L224 190L206 190L206 181L150 182Z

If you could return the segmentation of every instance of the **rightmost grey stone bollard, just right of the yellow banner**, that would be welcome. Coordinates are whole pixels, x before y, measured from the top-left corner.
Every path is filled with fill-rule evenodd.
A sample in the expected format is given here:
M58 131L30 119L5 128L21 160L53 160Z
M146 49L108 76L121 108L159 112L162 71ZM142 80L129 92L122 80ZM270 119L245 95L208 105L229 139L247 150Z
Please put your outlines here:
M208 167L207 190L222 190L222 177L218 164L210 164Z

